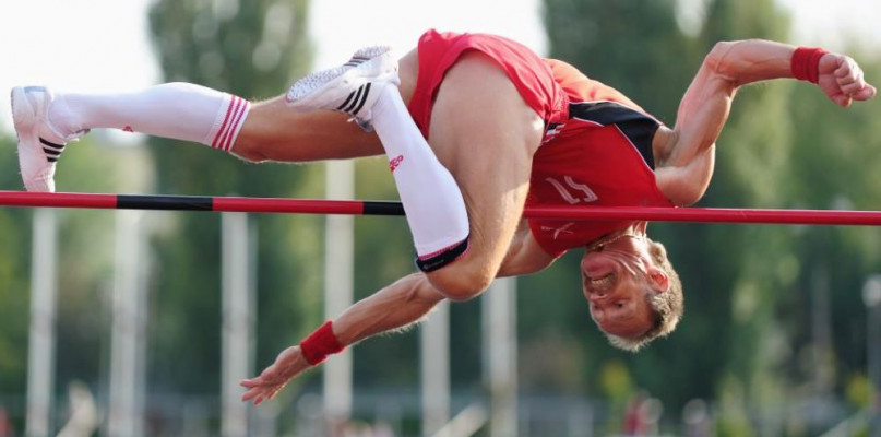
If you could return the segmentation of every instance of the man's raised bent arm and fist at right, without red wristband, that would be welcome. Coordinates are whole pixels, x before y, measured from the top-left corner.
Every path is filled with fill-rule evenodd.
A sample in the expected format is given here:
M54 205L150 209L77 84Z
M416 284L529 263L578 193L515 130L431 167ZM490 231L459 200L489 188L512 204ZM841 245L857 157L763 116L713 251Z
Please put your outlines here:
M753 82L793 78L795 49L761 39L716 44L682 97L674 130L662 130L657 138L665 142L658 185L668 198L687 205L703 196L713 174L715 142L737 90ZM820 58L818 86L841 106L876 94L859 66L840 54Z

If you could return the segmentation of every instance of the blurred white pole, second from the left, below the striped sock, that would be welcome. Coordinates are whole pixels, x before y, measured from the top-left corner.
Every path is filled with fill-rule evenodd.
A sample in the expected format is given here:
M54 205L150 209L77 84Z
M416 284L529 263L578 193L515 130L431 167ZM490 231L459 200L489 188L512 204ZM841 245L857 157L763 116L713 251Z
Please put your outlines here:
M143 435L142 365L145 308L141 294L140 211L116 213L116 271L110 339L110 402L108 434L112 437Z

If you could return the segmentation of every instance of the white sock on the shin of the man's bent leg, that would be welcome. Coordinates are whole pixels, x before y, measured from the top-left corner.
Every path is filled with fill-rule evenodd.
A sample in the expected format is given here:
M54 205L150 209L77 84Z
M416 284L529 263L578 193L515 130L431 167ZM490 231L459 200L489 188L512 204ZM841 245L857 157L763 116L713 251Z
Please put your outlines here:
M396 86L382 90L372 123L389 156L416 253L430 257L465 240L469 227L462 192L422 138Z

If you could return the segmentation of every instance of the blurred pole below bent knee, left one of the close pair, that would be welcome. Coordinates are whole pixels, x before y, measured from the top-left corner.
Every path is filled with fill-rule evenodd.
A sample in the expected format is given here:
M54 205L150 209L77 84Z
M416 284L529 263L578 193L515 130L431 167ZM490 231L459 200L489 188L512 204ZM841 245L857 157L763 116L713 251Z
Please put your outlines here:
M440 433L450 422L450 303L434 307L421 326L422 436Z

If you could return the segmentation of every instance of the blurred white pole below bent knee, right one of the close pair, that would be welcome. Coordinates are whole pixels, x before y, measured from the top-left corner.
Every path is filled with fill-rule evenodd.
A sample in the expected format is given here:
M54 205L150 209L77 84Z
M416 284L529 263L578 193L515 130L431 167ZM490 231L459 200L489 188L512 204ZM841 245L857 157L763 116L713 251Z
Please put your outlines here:
M484 380L491 397L490 436L517 435L516 280L484 293Z

